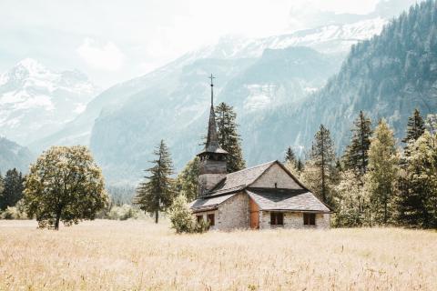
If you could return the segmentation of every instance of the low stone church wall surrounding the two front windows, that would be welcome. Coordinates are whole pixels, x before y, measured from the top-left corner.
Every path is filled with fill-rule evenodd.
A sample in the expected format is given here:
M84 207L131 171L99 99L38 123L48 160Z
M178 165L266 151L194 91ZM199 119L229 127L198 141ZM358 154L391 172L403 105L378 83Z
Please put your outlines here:
M316 226L303 226L301 212L284 212L284 226L270 226L270 212L261 211L259 214L259 229L283 228L330 228L330 214L316 214Z

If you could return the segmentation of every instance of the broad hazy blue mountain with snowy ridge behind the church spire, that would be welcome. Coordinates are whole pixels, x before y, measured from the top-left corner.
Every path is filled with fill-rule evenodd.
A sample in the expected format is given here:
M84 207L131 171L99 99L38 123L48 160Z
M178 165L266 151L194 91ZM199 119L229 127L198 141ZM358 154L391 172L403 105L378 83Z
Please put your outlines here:
M136 181L164 138L180 169L200 148L207 125L207 76L213 73L216 100L235 107L252 165L249 153L258 147L253 136L259 130L248 132L242 122L299 105L339 71L351 44L381 32L386 22L377 17L261 39L223 37L102 92L73 121L32 143L32 149L89 145L109 182Z

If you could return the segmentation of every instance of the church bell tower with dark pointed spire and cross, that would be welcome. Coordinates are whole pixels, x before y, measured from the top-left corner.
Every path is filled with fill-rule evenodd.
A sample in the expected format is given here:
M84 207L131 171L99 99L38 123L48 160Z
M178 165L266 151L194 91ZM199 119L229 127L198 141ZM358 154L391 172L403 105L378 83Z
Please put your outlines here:
M216 115L214 113L214 76L211 79L211 108L209 110L208 137L204 150L198 154L200 168L198 175L198 197L208 195L208 192L226 177L226 156L228 152L219 145L217 135Z

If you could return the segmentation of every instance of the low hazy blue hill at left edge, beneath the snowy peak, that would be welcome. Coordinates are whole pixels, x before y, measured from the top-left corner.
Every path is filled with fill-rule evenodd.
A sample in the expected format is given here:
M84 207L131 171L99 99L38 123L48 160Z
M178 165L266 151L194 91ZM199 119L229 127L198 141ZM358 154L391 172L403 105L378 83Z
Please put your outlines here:
M27 172L30 163L35 156L24 146L18 146L14 142L0 137L0 173L12 168Z

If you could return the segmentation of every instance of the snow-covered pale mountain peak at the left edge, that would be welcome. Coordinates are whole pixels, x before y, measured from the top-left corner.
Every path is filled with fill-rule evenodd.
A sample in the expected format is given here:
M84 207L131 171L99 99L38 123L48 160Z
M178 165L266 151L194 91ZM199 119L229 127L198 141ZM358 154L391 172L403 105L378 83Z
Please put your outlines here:
M52 72L27 58L0 75L0 134L28 145L71 121L96 94L86 75Z

